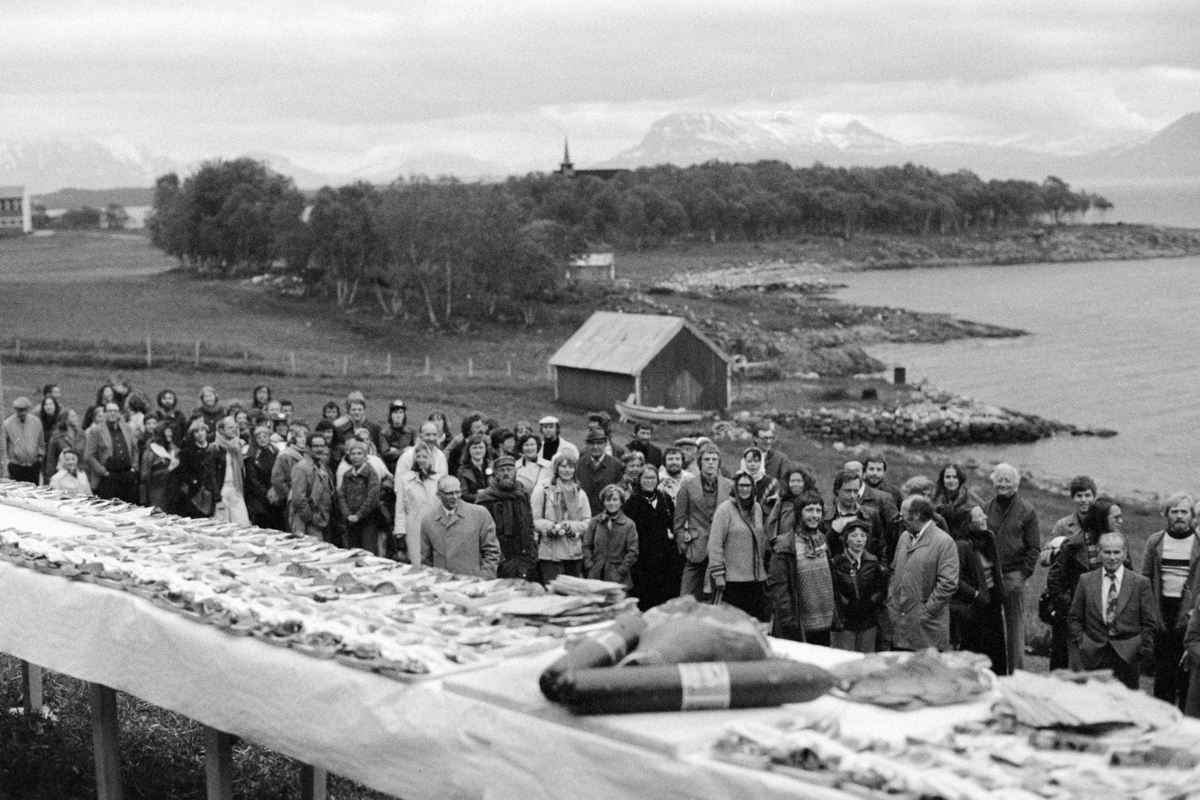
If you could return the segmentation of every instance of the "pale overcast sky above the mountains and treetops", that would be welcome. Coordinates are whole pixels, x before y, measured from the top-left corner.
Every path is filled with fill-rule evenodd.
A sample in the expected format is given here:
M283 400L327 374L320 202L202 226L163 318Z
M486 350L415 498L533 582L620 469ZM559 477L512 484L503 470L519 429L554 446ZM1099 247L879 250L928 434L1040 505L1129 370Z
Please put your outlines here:
M0 142L587 166L672 112L1070 145L1200 110L1200 2L8 0Z

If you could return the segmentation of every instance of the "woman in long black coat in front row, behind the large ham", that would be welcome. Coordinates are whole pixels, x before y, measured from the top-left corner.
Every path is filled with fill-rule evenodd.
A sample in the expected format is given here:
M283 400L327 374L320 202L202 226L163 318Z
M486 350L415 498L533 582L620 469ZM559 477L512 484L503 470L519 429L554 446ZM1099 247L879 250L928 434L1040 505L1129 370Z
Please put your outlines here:
M683 555L671 527L674 500L659 489L659 470L646 465L623 506L637 528L637 563L634 564L634 596L642 610L679 595Z

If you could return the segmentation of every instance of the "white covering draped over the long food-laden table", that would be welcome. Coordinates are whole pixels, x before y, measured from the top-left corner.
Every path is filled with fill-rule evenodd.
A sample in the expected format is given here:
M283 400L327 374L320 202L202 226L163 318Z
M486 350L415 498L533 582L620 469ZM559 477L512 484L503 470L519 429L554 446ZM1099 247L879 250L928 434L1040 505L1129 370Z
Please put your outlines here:
M0 527L10 525L77 528L0 505ZM406 800L847 796L704 754L730 720L769 720L786 711L577 718L536 692L548 654L446 681L400 682L230 636L130 593L7 563L0 563L0 651ZM803 654L806 645L797 646ZM818 658L851 657L809 650ZM889 724L862 716L865 706L847 711L840 706L848 704L833 698L820 703L826 712L854 716L864 727ZM964 706L950 714L978 712Z

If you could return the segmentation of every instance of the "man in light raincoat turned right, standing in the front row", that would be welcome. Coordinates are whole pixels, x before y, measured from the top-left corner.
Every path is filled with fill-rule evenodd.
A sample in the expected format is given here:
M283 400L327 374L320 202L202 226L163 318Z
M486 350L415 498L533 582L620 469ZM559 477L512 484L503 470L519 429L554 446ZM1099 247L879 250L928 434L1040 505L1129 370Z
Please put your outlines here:
M914 494L900 506L905 533L896 542L888 618L896 650L950 645L950 597L959 588L954 540L934 524L934 504Z

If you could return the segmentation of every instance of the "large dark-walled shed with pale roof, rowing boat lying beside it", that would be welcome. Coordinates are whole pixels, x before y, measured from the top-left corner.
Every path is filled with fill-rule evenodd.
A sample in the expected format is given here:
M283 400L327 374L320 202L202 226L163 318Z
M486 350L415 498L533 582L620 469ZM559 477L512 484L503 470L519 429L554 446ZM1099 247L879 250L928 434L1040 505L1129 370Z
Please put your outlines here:
M731 359L688 320L598 311L550 359L554 399L608 408L640 405L724 411Z

